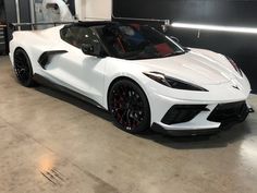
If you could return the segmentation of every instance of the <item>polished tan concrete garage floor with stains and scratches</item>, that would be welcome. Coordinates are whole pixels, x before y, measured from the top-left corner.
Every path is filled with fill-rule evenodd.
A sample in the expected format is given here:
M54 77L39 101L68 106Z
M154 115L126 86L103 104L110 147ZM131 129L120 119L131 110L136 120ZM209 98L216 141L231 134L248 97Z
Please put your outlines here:
M131 135L90 105L20 86L1 57L0 192L256 193L256 123L252 113L211 137Z

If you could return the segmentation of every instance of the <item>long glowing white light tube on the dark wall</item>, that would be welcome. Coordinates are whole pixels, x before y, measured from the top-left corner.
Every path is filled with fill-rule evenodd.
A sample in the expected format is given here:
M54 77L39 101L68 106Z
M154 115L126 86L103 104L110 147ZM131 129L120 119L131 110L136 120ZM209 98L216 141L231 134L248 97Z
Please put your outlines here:
M219 31L219 32L257 34L257 28L252 28L252 27L234 27L234 26L189 24L189 23L176 23L176 22L172 23L171 26L178 28L192 28L198 31Z

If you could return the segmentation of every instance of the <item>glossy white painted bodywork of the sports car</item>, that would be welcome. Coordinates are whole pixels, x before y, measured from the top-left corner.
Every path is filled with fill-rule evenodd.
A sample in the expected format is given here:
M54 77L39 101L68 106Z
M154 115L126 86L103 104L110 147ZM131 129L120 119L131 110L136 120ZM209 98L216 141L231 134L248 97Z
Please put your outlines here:
M22 47L29 56L34 73L50 81L78 92L97 101L108 109L108 89L118 77L125 76L134 80L145 92L151 110L151 123L156 122L166 130L200 130L213 129L219 122L210 122L207 117L218 104L246 100L250 93L250 85L245 75L243 77L234 70L228 59L219 53L192 49L181 56L149 59L122 60L115 58L96 58L85 56L60 38L62 26L40 32L15 32L10 43L10 58ZM52 58L44 70L37 62L44 51L66 50L66 53ZM143 72L158 71L169 76L199 85L209 92L192 92L173 89L163 86ZM238 86L235 89L233 86ZM205 104L210 111L200 112L189 122L166 125L161 119L175 104Z

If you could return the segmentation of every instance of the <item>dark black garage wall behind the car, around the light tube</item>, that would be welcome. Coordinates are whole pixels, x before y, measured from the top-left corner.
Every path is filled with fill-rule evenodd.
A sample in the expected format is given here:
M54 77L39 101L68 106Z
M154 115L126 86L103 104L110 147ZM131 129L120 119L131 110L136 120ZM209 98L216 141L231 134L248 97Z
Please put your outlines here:
M113 0L118 17L164 19L172 22L257 27L256 0ZM233 58L257 93L257 35L172 28L168 34L189 47L211 49Z

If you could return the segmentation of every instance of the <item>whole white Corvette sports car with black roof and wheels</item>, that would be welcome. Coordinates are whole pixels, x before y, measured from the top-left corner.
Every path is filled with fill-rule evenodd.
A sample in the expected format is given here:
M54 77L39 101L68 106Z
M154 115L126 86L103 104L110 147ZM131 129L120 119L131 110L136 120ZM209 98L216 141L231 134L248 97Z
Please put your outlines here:
M14 32L10 58L20 83L49 83L109 110L138 133L212 133L244 121L250 85L228 57L187 49L149 26L78 22Z

